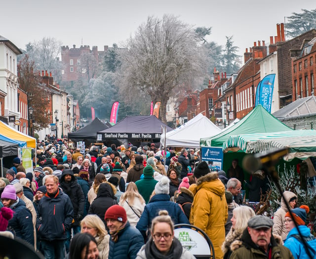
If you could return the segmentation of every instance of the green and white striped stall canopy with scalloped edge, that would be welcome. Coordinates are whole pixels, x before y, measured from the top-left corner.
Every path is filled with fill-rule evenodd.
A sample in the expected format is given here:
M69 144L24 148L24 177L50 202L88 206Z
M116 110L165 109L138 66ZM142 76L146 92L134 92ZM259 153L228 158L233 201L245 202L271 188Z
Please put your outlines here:
M304 159L316 156L316 131L291 130L234 135L223 143L223 150L240 149L245 153L260 153L280 148L288 148L289 153L283 157L286 161L294 157Z

